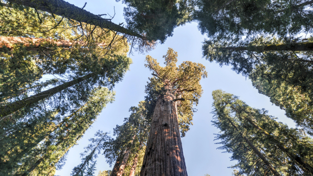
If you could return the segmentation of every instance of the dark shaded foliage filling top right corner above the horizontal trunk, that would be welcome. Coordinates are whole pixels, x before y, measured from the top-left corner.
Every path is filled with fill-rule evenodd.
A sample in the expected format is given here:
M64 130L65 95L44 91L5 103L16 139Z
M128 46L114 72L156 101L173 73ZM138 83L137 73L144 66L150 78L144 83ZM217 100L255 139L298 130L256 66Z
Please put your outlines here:
M202 34L209 37L239 37L259 32L293 36L303 31L312 32L312 7L304 3L307 2L198 0L194 19Z

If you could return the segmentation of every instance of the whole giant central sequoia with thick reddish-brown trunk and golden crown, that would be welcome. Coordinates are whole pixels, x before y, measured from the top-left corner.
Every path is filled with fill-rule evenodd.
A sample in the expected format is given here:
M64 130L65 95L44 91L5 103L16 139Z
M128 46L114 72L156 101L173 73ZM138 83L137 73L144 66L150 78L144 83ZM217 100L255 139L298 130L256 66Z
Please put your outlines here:
M187 175L178 116L192 120L192 106L198 104L202 94L199 81L207 73L202 64L190 61L177 67L177 53L173 49L163 58L165 67L151 56L146 57L146 67L154 75L147 87L154 87L158 98L140 175Z

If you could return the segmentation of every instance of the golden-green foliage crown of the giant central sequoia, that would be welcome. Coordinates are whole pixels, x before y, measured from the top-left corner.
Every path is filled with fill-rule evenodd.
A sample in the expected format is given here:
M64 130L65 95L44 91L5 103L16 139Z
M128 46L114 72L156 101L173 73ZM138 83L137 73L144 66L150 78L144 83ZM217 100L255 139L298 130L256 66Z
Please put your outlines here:
M195 111L193 105L198 105L203 92L200 80L207 77L207 72L202 64L190 61L185 61L177 67L177 52L171 48L168 49L163 58L165 59L165 67L161 67L156 59L151 56L146 56L147 64L145 66L153 71L153 77L149 78L150 82L146 86L146 93L148 94L146 99L156 102L157 97L162 94L165 82L168 81L172 85L173 95L176 98L184 99L178 104L177 111L181 134L185 136L189 130L189 125L192 125L192 116Z

